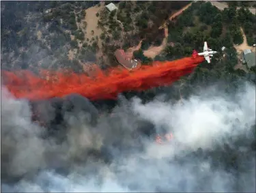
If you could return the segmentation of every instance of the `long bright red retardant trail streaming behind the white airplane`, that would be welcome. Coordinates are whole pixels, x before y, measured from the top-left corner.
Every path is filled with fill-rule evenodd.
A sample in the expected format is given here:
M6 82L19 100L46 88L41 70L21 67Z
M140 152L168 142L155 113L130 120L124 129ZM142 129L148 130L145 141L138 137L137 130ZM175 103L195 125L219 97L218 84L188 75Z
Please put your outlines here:
M190 74L203 57L186 57L175 61L156 61L139 70L129 72L113 68L107 72L96 72L95 78L86 74L41 71L35 75L27 70L2 71L3 85L16 98L45 100L78 93L89 100L117 98L124 91L143 91L152 87L170 85L181 76Z

